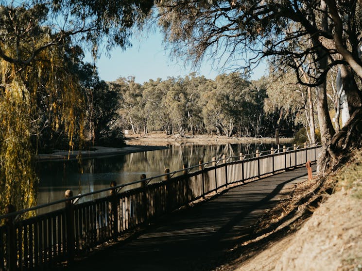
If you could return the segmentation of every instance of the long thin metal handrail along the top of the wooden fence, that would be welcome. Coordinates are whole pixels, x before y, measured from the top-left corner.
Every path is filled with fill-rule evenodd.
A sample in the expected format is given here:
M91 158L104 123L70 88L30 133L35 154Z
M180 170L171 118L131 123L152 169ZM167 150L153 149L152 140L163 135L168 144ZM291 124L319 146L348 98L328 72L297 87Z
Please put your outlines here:
M318 146L318 142L317 143L309 143L306 145L306 147L317 147ZM301 144L301 145L295 145L293 147L296 146L296 149L295 150L289 150L289 147L286 148L286 152L293 152L293 151L296 151L296 150L301 150L301 149L298 149L299 146L303 146L304 148L304 144ZM278 148L278 149L274 149L274 153L273 154L270 154L270 155L275 155L275 154L279 154L279 153L276 153L276 151L278 150L284 150L284 148ZM270 150L268 150L270 151ZM264 151L264 152L267 152L267 151ZM259 152L259 156L261 156L263 152ZM256 155L257 153L248 153L248 154L243 154L243 159L245 159L245 157L247 156L252 156L252 155ZM61 199L61 200L57 200L57 201L53 201L53 202L50 202L50 203L45 203L45 204L42 204L42 205L37 205L37 206L34 206L34 207L30 207L30 208L26 208L26 209L21 209L21 210L18 210L18 211L15 211L15 212L12 212L12 213L8 213L8 214L3 214L3 215L0 215L0 221L2 219L5 219L5 218L8 218L8 217L16 217L18 215L22 215L26 212L29 212L29 211L34 211L36 209L41 209L41 208L44 208L44 207L50 207L50 206L53 206L53 205L57 205L57 204L61 204L61 203L65 203L65 202L69 202L69 201L73 201L73 200L79 200L80 198L83 198L83 197L86 197L86 196L90 196L90 195L94 195L94 194L98 194L98 193L102 193L102 192L106 192L106 191L111 191L111 190L116 190L117 192L121 191L122 188L126 187L126 186L131 186L131 185L134 185L134 184L139 184L139 183L146 183L146 185L151 182L153 179L157 179L157 178L161 178L161 177L164 177L164 176L169 176L169 177L172 177L174 176L175 174L179 173L179 172L187 172L187 173L190 173L190 171L194 168L199 168L200 166L204 168L206 168L206 165L209 165L209 164L213 164L215 163L215 166L217 166L218 162L222 161L222 160L225 160L227 162L228 159L232 159L232 158L240 158L241 156L240 155L237 155L237 156L230 156L230 157L225 157L225 158L220 158L220 159L215 159L213 161L208 161L208 162L205 162L205 163L200 163L198 165L194 165L194 166L190 166L188 168L185 168L185 169L180 169L180 170L176 170L176 171L172 171L170 173L164 173L164 174L161 174L161 175L156 175L156 176L152 176L152 177L148 177L148 178L145 178L145 179L140 179L140 180L137 180L137 181L133 181L133 182L129 182L129 183L126 183L126 184L120 184L118 186L114 186L114 187L108 187L108 188L104 188L104 189L101 189L101 190L97 190L97 191L92 191L92 192L87 192L87 193L84 193L84 194L79 194L79 195L76 195L76 196L72 196L72 197L69 197L69 198L65 198L65 199ZM246 158L246 159L250 159L250 158Z

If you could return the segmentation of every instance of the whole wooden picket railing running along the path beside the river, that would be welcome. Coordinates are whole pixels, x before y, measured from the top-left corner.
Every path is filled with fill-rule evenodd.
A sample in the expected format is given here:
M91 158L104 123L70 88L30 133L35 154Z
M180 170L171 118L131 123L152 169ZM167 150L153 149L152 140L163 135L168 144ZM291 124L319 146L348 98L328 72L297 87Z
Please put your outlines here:
M72 196L51 204L29 208L0 216L0 270L47 270L59 263L71 262L98 245L117 240L143 223L149 223L179 207L185 206L212 191L232 183L245 182L278 171L316 161L320 146L304 145L229 157L169 173L163 180L150 183L156 177L130 184ZM140 187L121 192L127 185ZM76 204L84 196L104 191L110 196ZM65 207L46 214L20 220L22 214L52 204Z

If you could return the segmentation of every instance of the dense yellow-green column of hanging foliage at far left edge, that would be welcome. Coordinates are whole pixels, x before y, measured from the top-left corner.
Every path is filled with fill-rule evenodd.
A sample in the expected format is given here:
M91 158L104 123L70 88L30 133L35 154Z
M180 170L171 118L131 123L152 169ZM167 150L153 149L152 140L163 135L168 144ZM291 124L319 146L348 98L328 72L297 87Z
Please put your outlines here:
M32 151L29 148L30 122L23 117L30 114L30 94L17 80L1 90L0 212L3 213L9 203L17 208L33 206L37 179L32 166Z

